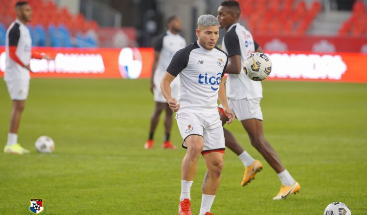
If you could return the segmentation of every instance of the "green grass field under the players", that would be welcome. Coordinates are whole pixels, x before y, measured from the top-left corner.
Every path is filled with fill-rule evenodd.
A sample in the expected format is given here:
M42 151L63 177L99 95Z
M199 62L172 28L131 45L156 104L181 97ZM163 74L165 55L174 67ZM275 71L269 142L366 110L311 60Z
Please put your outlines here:
M153 96L148 80L33 79L19 142L30 154L0 153L0 214L27 214L43 198L47 215L175 215L185 150L162 150L163 126L146 151ZM333 201L353 215L367 214L367 85L265 82L262 110L266 138L301 185L286 200L275 172L252 148L235 121L229 128L264 169L241 187L242 163L226 152L223 179L212 206L216 215L322 215ZM0 81L0 146L6 143L10 99ZM35 140L48 135L52 154ZM182 138L174 122L172 140ZM191 189L199 214L204 160Z

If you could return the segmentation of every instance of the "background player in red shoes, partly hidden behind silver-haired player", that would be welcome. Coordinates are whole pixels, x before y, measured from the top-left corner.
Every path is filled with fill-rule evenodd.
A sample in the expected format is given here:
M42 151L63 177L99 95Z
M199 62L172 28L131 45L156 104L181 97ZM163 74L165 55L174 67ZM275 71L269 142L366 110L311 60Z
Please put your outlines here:
M150 122L150 132L149 139L145 143L145 149L151 149L154 145L153 135L157 128L157 124L164 110L166 115L164 119L164 142L162 148L164 149L176 149L176 146L172 145L169 140L169 134L172 128L172 110L169 108L166 100L161 93L161 79L167 68L169 62L171 61L173 55L176 51L184 48L186 46L186 41L183 37L179 35L181 31L181 19L177 16L172 16L168 18L167 27L168 30L163 35L161 35L156 43L154 44L154 62L152 68L152 76L150 79L150 89L154 94L154 101L156 102L156 108L153 112ZM180 80L176 79L172 82L172 96L177 97L179 93Z

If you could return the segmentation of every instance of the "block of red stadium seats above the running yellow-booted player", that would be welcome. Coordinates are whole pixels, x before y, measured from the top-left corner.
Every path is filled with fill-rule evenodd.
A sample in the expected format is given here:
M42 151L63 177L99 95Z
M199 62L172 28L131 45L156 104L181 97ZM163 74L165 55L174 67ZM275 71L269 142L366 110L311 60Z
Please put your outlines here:
M319 1L240 0L241 19L257 34L303 35L321 11ZM265 14L265 16L264 16Z

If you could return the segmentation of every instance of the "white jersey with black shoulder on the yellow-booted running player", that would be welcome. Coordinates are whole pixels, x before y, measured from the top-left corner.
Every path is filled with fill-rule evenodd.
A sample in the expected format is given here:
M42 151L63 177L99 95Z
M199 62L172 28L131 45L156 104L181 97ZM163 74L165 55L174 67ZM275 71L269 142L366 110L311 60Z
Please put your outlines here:
M229 57L241 55L243 63L247 56L255 52L257 45L252 38L250 31L239 23L231 25L223 38L222 49ZM242 64L241 64L242 65ZM226 83L227 98L238 99L255 99L262 98L261 82L250 80L245 72L240 74L228 74Z

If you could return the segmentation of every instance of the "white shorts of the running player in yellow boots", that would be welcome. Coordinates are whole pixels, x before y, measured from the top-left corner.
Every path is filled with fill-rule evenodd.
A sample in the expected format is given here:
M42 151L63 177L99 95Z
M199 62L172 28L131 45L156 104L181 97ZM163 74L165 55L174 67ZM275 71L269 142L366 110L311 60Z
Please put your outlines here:
M228 105L229 109L233 111L239 121L247 119L258 119L262 121L263 116L260 101L261 98L238 100L228 99ZM223 106L220 105L219 108L223 109Z

